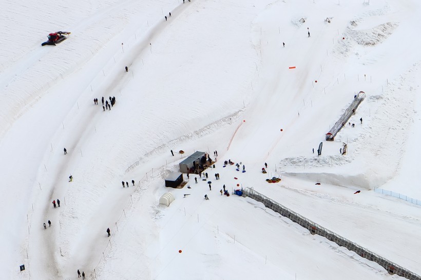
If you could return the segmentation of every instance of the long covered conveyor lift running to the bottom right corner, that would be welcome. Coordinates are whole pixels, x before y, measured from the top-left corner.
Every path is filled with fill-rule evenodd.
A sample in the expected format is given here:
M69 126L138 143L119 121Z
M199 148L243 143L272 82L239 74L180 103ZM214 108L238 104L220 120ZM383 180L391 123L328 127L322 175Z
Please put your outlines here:
M333 231L330 231L312 221L308 218L301 216L300 214L286 208L285 206L273 201L271 198L255 191L253 188L246 188L243 191L244 197L250 197L255 199L257 202L263 203L266 208L270 208L273 211L281 214L284 217L291 219L294 223L306 228L310 231L311 234L318 234L320 236L328 238L330 241L335 242L341 247L345 247L350 251L354 251L361 257L367 258L369 261L376 262L380 266L384 267L389 274L397 274L401 277L405 277L410 280L421 280L421 276L409 271L406 268L403 268L388 259L381 257L370 250L359 246L358 244L349 241L347 238L344 238Z

